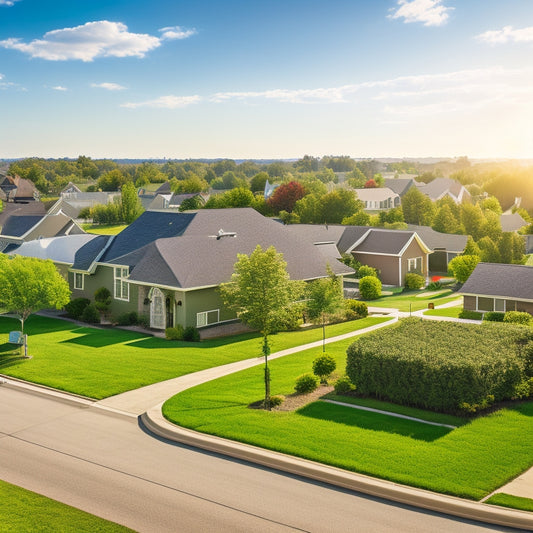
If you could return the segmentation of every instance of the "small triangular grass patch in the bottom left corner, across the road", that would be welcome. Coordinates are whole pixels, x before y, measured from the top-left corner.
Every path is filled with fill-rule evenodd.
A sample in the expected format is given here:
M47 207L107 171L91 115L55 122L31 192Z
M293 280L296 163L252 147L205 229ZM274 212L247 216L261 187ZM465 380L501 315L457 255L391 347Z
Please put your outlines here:
M131 529L0 480L0 531L124 532Z

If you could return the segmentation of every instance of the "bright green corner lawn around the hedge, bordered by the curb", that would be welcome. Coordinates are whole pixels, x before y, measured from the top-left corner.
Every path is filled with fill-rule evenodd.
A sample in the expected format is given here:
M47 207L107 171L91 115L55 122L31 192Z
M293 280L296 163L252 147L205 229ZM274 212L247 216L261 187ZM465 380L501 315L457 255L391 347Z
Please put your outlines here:
M327 347L339 373L351 342ZM319 353L307 350L271 361L272 394L291 394L297 376L311 370ZM471 499L481 499L533 465L533 402L451 430L321 401L297 412L249 409L263 394L258 366L174 396L163 414L204 433ZM419 418L431 416L449 420L431 413Z

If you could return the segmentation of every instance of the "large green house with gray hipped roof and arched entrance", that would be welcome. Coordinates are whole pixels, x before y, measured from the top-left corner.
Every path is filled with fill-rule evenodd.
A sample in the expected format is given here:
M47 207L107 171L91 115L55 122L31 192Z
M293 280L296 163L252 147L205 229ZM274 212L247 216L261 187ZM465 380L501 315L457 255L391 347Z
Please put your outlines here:
M298 239L251 208L146 211L116 236L96 236L86 242L78 236L58 239L42 243L41 248L34 245L35 249L28 243L14 253L34 256L46 245L61 256L63 270L70 265L72 298L93 299L97 289L107 287L113 316L136 311L149 316L156 329L235 320L216 289L231 279L238 254L248 255L258 244L283 253L292 279L325 277L328 264L337 275L353 273L336 260L338 252L332 255ZM59 255L48 257L59 261Z

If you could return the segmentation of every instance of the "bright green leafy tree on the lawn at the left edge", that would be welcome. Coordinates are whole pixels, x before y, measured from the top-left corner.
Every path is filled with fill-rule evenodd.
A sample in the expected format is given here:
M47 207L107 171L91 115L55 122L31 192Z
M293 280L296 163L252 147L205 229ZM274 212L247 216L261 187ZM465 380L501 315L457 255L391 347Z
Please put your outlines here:
M24 322L32 313L50 307L61 309L69 301L68 283L52 261L0 254L0 309L20 317L23 333Z

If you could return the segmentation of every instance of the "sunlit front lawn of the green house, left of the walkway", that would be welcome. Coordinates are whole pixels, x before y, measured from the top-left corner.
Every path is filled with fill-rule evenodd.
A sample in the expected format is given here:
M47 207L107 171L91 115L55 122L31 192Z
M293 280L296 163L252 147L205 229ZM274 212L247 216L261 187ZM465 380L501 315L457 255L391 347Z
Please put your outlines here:
M366 318L335 324L326 328L326 335L381 321ZM33 358L25 360L9 355L13 345L7 343L8 333L15 329L20 329L20 322L0 318L0 373L96 399L261 355L261 339L256 333L187 343L32 316L25 332ZM321 328L279 333L271 338L272 352L321 338Z

